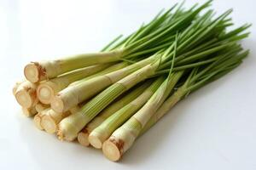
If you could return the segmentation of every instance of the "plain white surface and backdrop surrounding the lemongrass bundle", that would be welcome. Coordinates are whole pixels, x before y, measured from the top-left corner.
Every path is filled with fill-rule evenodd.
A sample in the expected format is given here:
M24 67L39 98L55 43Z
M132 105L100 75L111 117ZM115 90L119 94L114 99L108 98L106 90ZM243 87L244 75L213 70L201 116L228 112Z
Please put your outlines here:
M234 8L236 26L250 22L243 41L251 54L226 77L180 102L118 163L100 150L60 142L21 114L11 89L31 60L94 52L137 29L175 1L0 0L0 169L256 169L256 4L216 0ZM190 7L199 0L188 1ZM201 3L203 1L200 1Z

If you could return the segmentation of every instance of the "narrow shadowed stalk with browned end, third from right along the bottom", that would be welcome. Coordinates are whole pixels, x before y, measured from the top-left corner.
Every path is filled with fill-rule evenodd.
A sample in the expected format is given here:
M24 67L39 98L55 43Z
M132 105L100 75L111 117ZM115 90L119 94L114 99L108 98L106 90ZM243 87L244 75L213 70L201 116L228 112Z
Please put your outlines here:
M135 89L131 89L131 92L128 91L127 94L125 94L124 97L121 99L116 99L113 104L109 105L106 109L104 109L98 116L96 116L91 122L89 122L86 127L79 132L78 140L79 143L84 146L89 146L89 134L92 130L94 130L96 127L98 127L102 122L104 122L109 116L113 115L114 112L119 111L122 107L129 104L134 99L137 99L137 97L143 93L145 88L148 88L150 82L144 82L143 85L138 86Z

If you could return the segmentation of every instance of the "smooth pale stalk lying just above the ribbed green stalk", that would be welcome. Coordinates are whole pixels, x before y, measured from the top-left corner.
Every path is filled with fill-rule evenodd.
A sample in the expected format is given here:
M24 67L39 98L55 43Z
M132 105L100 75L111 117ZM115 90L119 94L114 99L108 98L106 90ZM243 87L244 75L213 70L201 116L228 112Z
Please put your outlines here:
M104 88L118 82L120 79L130 75L132 72L139 70L145 65L152 63L156 55L152 55L147 59L143 59L133 65L129 65L118 71L79 82L73 86L67 87L51 100L51 107L57 112L68 111L74 105L78 105L85 99L89 99L95 94L101 92ZM81 129L80 129L81 130Z

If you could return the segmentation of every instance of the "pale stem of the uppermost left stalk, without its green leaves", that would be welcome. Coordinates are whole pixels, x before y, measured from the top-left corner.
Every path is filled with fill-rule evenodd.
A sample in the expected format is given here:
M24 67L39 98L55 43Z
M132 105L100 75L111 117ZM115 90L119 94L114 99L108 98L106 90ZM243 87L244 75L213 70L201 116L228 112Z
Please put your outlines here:
M25 66L24 74L28 81L40 82L86 66L118 61L122 53L122 50L115 50L96 54L78 54L49 61L31 62Z

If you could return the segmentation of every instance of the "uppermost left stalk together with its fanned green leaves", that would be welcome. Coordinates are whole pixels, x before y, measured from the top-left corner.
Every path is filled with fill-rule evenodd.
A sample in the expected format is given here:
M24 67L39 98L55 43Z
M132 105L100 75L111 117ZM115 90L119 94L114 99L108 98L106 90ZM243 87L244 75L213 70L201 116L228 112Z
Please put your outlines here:
M147 25L142 26L131 36L125 38L125 41L122 41L114 48L110 48L110 51L107 52L79 54L62 59L32 62L26 65L24 69L26 79L31 82L40 82L85 66L110 63L121 59L131 59L131 55L132 58L140 57L134 55L137 53L156 53L163 45L159 44L159 42L165 42L176 31L181 31L189 26L201 10L207 8L210 3L211 1L195 8L195 10L191 8L188 11L183 11L183 9L178 8L178 14L170 14L172 9L175 8L174 6L167 10L166 13L157 15ZM148 48L154 50L148 52Z

